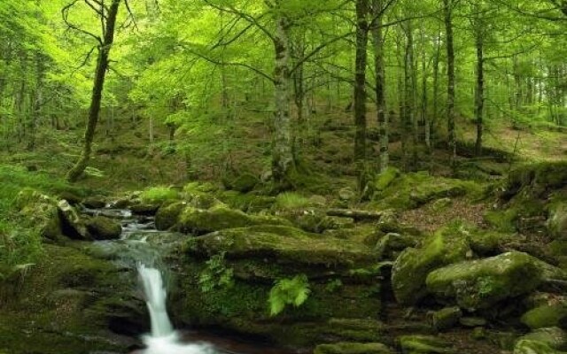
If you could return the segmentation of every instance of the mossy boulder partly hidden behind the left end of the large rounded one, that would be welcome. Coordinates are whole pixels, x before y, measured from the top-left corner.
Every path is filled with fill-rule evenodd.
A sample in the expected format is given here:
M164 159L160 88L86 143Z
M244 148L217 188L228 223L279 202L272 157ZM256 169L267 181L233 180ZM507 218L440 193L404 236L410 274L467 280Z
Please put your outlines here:
M392 269L392 289L400 304L416 304L427 294L425 279L431 271L462 261L470 255L466 237L451 228L431 235L420 249L401 252Z

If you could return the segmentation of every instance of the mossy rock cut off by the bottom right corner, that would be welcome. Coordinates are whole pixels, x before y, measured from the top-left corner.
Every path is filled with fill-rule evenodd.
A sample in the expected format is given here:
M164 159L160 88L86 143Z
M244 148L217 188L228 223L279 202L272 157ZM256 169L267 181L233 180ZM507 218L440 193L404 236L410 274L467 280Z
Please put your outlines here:
M519 338L514 354L565 354L567 334L557 327L541 328Z

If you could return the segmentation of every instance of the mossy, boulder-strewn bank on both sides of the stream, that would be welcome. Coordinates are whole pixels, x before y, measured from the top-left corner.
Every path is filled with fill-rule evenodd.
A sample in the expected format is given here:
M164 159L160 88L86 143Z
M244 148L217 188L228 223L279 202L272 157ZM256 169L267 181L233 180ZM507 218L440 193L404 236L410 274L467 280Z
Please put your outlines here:
M518 173L525 177L510 179L505 192L496 196L497 209L488 211L486 219L501 216L501 227L454 221L432 233L400 223L400 211L377 207L369 208L370 214L353 214L369 219L330 216L329 207L345 208L345 202L326 205L315 196L260 197L268 207L249 203L237 209L236 195L192 184L184 190L167 189L163 198L144 200L144 193L136 193L115 201L136 212L135 219L147 226L145 233L165 246L159 253L173 275L168 307L175 327L223 329L291 350L316 348L317 354L556 354L567 342L560 329L566 324L561 313L567 304L567 276L558 247L564 239L564 184L557 182L567 179L554 178L553 184L541 171L537 167ZM396 184L400 181L423 186L405 189ZM387 199L402 207L412 201L411 208L425 205L443 212L454 199L478 193L450 179L437 179L432 188L423 174L389 183L377 183L384 189L377 192L384 196L377 204ZM63 222L66 216L58 212L54 222L52 212L40 212L50 210L50 201L26 199L22 212L35 211L51 242L45 246L45 261L52 264L31 267L19 288L11 290L12 302L6 301L1 311L9 314L3 319L14 316L18 324L4 324L0 330L17 332L19 338L14 335L8 342L3 335L0 348L26 352L22 334L35 333L58 334L55 341L60 335L61 343L70 346L75 344L66 334L84 333L91 335L88 344L58 352L138 350L136 338L149 332L150 321L132 266L120 264L114 253L120 241L87 241L98 238L92 235L94 227L85 228L82 241L70 240L83 237L80 225L70 233L71 218ZM518 213L517 205L526 200L548 212L538 215L540 209L532 208ZM167 232L152 229L153 215ZM78 215L75 220L93 225L89 218ZM553 232L545 231L548 227ZM47 237L57 228L59 237ZM553 237L548 242L533 242L548 236ZM54 303L54 293L65 301ZM71 301L85 293L92 296ZM276 313L274 294L283 298ZM298 294L304 295L294 305ZM28 307L32 298L38 301ZM30 314L35 309L37 317Z

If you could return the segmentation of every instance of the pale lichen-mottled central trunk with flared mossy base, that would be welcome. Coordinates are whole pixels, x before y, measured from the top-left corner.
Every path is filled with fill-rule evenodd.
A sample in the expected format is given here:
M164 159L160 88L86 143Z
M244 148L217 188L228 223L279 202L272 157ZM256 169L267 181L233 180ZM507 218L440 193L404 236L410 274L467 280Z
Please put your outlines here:
M290 121L290 48L289 20L282 14L276 19L276 69L274 73L275 105L274 134L272 140L272 174L276 185L286 188L290 173L295 169L291 149Z

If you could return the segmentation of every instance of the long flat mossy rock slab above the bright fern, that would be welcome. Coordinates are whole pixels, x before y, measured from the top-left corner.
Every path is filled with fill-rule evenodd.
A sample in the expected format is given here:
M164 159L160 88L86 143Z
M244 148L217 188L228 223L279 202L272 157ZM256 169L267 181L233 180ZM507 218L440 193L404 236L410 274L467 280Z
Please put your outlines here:
M189 241L192 253L228 258L275 258L279 263L324 266L369 266L376 255L357 242L323 238L297 228L243 227L218 231Z

